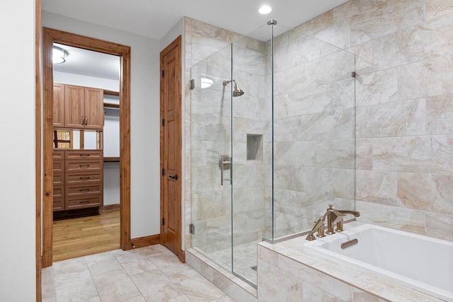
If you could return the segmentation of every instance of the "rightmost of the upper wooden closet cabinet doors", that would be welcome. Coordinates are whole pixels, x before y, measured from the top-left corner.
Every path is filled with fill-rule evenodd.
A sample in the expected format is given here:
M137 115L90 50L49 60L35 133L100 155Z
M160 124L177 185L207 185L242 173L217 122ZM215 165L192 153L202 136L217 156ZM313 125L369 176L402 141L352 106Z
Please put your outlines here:
M104 127L104 91L97 88L85 88L85 128L103 129Z

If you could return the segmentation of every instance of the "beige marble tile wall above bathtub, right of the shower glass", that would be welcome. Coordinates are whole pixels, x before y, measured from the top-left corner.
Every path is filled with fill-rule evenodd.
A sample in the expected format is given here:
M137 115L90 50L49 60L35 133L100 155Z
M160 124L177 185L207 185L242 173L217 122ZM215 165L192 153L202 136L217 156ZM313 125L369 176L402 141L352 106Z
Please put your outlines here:
M356 81L359 220L453 240L452 2L369 4L331 12L355 7L343 19L349 50L367 61Z

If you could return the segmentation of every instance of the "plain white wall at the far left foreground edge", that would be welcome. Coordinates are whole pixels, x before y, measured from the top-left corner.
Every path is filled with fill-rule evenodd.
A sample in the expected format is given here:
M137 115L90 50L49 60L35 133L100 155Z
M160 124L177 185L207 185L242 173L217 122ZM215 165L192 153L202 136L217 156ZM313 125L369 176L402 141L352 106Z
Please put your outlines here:
M35 1L3 3L0 28L0 301L35 301Z

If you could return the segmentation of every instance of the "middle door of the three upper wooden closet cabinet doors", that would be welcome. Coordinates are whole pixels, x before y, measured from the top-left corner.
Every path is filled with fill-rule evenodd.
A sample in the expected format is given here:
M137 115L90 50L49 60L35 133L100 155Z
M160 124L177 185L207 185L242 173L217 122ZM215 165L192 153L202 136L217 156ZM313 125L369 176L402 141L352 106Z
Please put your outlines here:
M83 128L85 111L84 87L66 85L64 88L65 127Z

